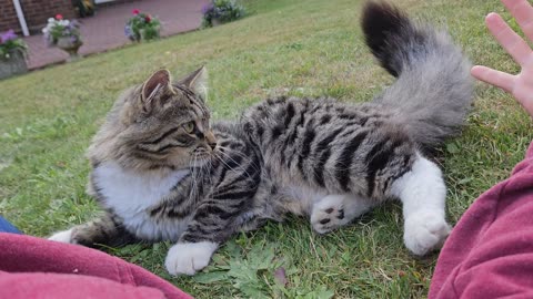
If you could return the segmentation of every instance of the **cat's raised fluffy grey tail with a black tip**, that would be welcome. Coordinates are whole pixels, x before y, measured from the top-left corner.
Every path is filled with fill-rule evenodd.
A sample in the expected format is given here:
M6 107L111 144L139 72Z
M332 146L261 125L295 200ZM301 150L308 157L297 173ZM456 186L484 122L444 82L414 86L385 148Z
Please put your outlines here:
M384 2L368 2L366 44L398 80L374 101L392 109L393 121L424 147L459 132L472 102L470 62L445 31L414 23Z

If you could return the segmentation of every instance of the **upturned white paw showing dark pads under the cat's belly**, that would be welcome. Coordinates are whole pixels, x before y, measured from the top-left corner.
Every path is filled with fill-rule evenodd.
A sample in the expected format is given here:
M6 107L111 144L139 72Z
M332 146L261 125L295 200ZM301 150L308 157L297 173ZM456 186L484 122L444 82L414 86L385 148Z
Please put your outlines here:
M311 213L311 225L319 234L330 233L350 220L345 215L343 202L336 198L322 199Z

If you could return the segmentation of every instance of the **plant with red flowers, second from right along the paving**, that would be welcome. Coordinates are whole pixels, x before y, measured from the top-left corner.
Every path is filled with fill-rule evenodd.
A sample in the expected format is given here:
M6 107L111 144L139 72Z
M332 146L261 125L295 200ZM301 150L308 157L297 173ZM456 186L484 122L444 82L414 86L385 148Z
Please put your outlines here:
M134 9L132 12L133 17L128 20L124 27L124 33L128 39L141 42L160 38L161 22L158 18L140 12L138 9Z

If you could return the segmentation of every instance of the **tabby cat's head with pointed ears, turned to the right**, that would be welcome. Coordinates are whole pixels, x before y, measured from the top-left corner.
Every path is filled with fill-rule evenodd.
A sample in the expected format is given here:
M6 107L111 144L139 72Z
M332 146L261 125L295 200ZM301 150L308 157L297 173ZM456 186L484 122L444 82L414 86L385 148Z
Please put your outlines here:
M179 82L161 70L135 89L121 111L127 128L120 143L130 159L143 168L202 166L213 155L217 140L210 113L199 94L203 68Z

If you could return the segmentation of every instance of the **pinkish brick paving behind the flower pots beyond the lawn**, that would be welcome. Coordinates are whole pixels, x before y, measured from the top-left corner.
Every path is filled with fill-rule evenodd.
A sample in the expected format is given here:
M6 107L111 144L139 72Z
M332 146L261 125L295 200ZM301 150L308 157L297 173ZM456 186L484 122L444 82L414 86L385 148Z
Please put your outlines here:
M201 24L201 9L207 2L208 0L143 0L99 8L94 17L79 19L83 38L79 53L99 53L130 43L124 35L124 24L133 9L158 17L163 37L194 30ZM48 48L41 34L27 37L24 41L29 47L30 70L62 62L68 58L61 49Z

